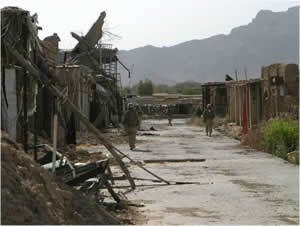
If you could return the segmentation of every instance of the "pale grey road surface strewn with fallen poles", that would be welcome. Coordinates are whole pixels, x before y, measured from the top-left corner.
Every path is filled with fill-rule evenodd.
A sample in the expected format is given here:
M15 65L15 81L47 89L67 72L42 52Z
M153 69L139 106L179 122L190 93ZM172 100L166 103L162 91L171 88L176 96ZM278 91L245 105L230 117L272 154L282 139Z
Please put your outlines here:
M270 154L241 147L239 142L204 128L175 120L145 121L145 140L138 148L121 150L136 160L205 158L205 162L148 163L146 167L173 181L202 185L138 187L127 197L144 218L139 224L299 224L299 168ZM155 135L151 136L149 133ZM136 167L136 177L152 178ZM145 184L146 182L139 182ZM207 184L206 184L207 183ZM153 183L152 183L153 184Z

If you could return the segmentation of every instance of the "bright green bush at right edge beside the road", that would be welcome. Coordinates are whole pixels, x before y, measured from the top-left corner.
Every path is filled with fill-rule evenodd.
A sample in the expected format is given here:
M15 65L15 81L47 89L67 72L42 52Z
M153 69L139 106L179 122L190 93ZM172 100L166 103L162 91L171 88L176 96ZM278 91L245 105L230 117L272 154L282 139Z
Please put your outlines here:
M280 158L299 149L299 122L275 119L266 124L263 135L265 148Z

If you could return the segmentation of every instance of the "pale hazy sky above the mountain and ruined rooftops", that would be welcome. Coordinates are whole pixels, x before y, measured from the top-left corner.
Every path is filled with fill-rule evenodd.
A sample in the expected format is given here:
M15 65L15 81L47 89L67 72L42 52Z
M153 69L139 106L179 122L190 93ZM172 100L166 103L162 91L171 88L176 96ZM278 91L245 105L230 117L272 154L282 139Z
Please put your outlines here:
M57 33L60 48L77 43L70 32L85 34L102 11L106 25L119 40L106 40L119 49L145 45L172 46L192 39L228 34L251 22L258 11L285 11L295 0L1 0L0 7L18 6L37 12L40 37Z

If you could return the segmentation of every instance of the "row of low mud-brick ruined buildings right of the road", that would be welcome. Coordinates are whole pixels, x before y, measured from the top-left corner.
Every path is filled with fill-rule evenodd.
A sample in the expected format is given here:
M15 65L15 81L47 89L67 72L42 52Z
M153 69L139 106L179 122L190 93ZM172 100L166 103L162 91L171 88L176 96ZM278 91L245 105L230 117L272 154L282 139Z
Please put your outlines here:
M226 115L228 122L247 129L281 115L298 118L299 68L297 64L264 66L261 78L205 83L202 95L203 107L210 103L216 115Z

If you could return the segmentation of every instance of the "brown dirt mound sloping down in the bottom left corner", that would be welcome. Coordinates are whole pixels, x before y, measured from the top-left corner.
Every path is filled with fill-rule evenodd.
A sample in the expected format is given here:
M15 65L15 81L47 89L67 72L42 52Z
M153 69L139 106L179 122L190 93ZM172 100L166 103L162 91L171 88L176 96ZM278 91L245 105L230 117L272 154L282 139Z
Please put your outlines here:
M2 224L118 224L94 200L57 181L1 133Z

